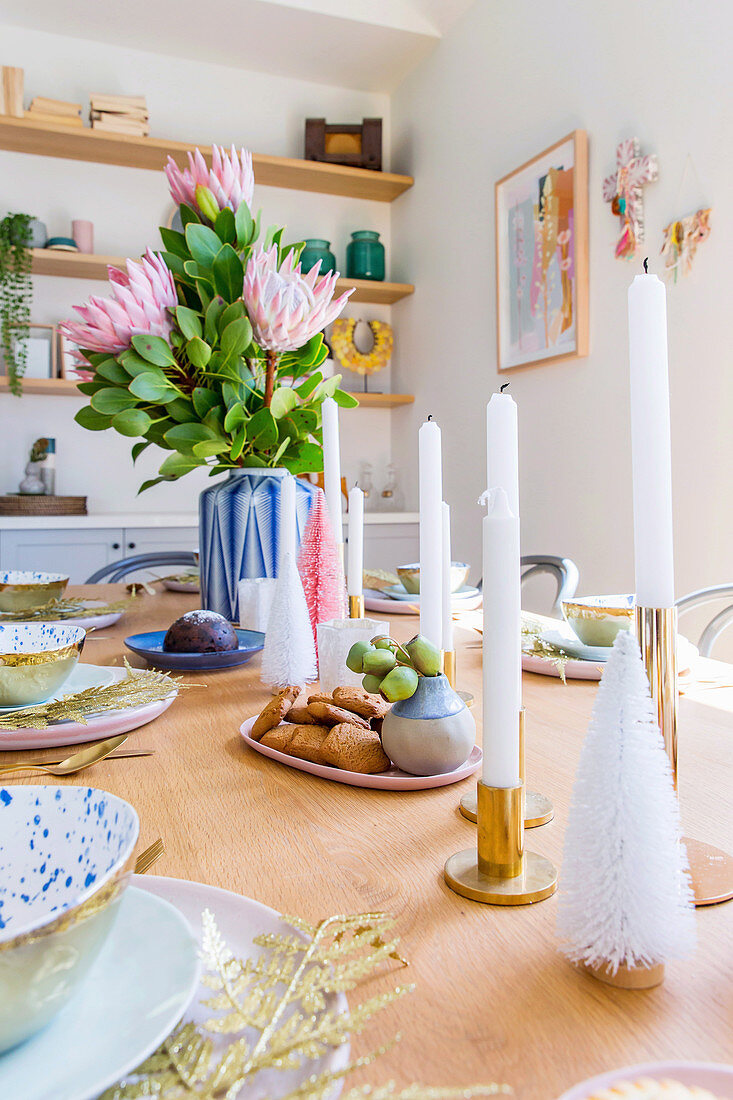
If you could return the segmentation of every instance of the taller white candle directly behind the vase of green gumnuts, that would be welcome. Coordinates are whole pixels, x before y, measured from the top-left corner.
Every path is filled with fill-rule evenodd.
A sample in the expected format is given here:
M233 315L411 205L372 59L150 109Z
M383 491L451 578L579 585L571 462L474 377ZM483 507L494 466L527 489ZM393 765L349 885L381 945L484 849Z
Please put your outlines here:
M427 420L418 433L420 512L420 634L442 639L442 460L440 428Z

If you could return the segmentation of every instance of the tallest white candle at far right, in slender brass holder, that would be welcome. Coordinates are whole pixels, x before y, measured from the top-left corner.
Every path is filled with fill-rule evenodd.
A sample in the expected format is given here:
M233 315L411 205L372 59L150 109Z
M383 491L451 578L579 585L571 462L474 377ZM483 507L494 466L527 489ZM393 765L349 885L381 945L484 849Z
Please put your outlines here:
M656 275L628 288L632 466L636 601L675 603L671 441L667 367L667 292Z

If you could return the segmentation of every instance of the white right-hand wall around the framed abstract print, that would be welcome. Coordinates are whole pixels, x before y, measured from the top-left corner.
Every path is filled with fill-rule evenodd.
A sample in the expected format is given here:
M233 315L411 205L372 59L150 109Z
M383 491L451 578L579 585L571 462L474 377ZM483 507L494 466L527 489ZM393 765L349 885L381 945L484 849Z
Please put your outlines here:
M394 459L416 499L417 428L444 430L453 546L480 564L483 410L511 381L521 416L525 553L576 559L584 592L633 591L626 288L617 219L601 184L617 142L659 157L646 188L652 268L661 229L712 205L712 235L668 294L677 586L733 580L730 204L733 6L690 0L474 3L392 99L393 167L415 187L395 204L393 249L417 285L395 311L395 388L419 400L393 420ZM588 359L497 377L494 182L576 128L590 142ZM687 154L700 184L678 195Z

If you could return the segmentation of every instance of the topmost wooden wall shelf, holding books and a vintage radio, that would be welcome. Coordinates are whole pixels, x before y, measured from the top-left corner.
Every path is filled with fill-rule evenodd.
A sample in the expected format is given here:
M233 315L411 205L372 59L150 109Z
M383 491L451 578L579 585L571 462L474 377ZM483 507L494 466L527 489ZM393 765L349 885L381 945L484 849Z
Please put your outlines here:
M118 164L128 168L160 170L168 156L184 163L195 144L163 138L133 138L100 133L89 127L51 125L26 119L0 117L0 148L37 156L59 156L68 161ZM199 146L207 160L210 146ZM322 195L344 195L354 199L392 202L413 186L412 176L392 172L369 172L317 161L264 156L254 153L254 177L264 187L286 187Z

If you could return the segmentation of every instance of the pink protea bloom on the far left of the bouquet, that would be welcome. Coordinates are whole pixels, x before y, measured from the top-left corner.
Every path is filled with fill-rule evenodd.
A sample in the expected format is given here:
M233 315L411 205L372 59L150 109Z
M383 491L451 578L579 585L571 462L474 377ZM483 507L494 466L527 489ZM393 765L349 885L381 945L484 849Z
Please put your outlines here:
M178 304L173 275L150 249L140 262L128 260L127 268L108 268L111 298L91 297L86 306L74 307L81 321L61 326L72 343L116 355L130 346L138 332L167 339L173 328L169 310ZM78 359L85 362L83 356Z

